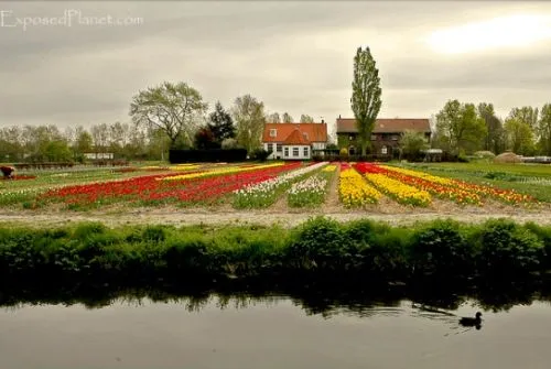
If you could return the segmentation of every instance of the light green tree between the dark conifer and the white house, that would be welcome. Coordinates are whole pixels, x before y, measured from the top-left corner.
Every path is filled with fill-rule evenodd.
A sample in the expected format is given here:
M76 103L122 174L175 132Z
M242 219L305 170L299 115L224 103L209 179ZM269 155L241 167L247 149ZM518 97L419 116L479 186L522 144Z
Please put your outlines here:
M260 137L266 123L264 104L250 95L236 98L233 108L237 124L237 142L251 153L260 146Z

